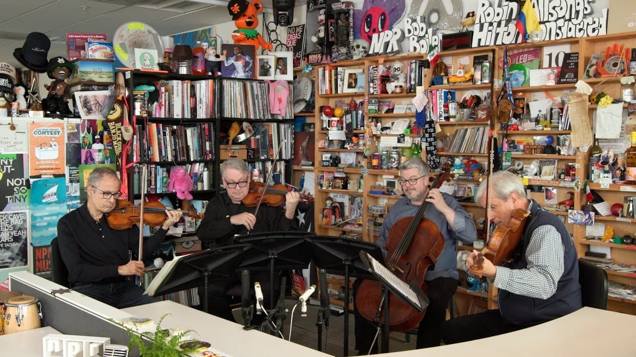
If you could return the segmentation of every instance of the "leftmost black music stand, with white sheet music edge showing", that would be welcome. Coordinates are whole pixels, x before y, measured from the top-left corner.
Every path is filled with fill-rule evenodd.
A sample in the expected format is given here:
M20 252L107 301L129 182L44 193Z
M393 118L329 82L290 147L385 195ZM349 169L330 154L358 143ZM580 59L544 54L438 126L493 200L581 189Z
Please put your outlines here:
M244 260L245 253L252 250L251 245L228 245L203 250L176 257L174 264L166 264L166 274L157 274L162 278L152 295L164 295L197 286L204 286L203 310L208 313L207 295L209 280L228 278L234 274Z

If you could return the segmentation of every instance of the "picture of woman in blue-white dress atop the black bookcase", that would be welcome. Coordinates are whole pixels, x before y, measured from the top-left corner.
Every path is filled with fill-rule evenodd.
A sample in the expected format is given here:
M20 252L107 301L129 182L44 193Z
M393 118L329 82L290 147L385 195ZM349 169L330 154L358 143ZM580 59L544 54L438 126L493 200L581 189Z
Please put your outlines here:
M221 55L225 61L221 61L221 76L230 78L256 79L254 72L254 60L256 49L250 44L221 44Z

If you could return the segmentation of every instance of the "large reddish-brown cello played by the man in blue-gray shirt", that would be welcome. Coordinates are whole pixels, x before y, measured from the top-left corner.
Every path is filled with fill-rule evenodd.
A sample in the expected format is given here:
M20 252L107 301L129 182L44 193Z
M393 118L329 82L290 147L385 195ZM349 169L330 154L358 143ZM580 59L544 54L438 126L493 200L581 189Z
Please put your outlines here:
M439 173L431 187L438 188L448 179L450 166ZM428 286L424 274L434 264L444 249L444 236L434 222L424 217L429 202L424 201L413 217L397 220L389 231L386 248L389 251L387 268L397 278L407 283L415 280L426 293ZM356 293L356 307L366 320L374 321L382 304L382 283L375 280L364 280ZM425 309L418 312L415 307L400 299L389 301L389 328L391 331L408 331L419 325L424 317ZM380 320L384 319L384 311Z

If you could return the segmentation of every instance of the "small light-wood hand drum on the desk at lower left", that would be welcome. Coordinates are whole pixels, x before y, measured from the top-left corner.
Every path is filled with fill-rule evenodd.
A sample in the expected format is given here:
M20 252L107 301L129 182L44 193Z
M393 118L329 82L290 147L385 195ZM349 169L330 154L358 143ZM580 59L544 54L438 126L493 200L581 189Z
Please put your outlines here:
M4 334L39 328L42 325L42 307L37 297L22 295L7 299L2 307Z

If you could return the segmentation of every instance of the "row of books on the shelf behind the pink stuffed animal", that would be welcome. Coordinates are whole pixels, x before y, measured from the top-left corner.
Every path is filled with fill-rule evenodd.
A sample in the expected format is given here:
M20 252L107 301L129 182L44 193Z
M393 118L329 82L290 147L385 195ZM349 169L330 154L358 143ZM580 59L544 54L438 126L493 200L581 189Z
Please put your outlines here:
M210 189L212 182L211 172L206 169L205 163L191 163L183 167L192 178L191 191ZM170 182L170 170L176 168L174 165L148 165L148 178L146 182L146 194L174 192L168 189ZM135 164L132 169L132 191L133 194L141 194L142 168ZM200 183L200 185L199 185Z

